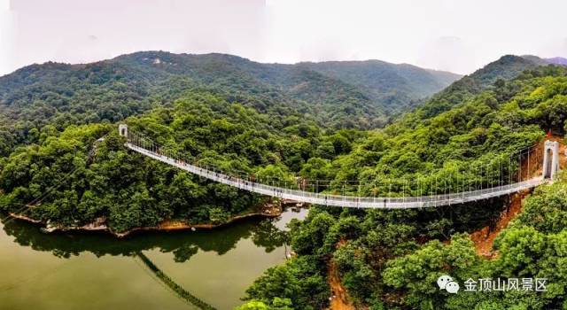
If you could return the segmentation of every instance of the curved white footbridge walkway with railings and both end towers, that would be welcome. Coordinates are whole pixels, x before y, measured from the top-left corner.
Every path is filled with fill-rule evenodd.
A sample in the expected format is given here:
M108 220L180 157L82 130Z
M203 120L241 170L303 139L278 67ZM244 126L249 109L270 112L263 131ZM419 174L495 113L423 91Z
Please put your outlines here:
M479 190L465 190L455 193L439 195L427 195L418 197L361 197L346 195L331 195L325 192L311 192L307 190L291 189L269 185L258 182L250 177L242 177L238 174L228 174L222 171L211 169L198 163L191 163L174 151L167 151L156 143L134 132L128 132L126 125L120 125L120 136L127 138L126 146L132 151L136 151L151 159L159 160L163 163L183 169L191 174L197 174L214 182L221 182L240 190L247 190L261 195L274 198L290 199L298 202L315 205L334 205L353 208L377 208L377 209L408 209L424 208L441 205L457 205L471 201L478 201L487 198L495 198L509 195L518 191L531 189L544 182L548 182L555 177L559 170L557 142L547 141L543 154L542 174L518 182L508 184L493 185ZM528 152L529 154L529 152ZM529 156L529 155L528 155ZM521 163L519 163L521 165ZM528 164L529 165L529 164Z

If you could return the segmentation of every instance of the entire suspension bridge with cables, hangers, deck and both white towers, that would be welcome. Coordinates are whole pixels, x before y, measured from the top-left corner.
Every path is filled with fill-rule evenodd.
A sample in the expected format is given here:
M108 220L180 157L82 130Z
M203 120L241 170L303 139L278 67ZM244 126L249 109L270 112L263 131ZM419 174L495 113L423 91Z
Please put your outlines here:
M536 145L518 151L518 155L510 156L509 165L504 165L500 161L497 163L497 167L493 167L494 164L491 164L490 167L477 167L475 172L471 175L476 175L478 172L483 175L495 175L497 181L483 182L481 178L480 182L478 182L476 179L470 181L464 180L464 177L462 177L462 180L457 179L457 182L461 182L460 187L458 187L459 191L447 192L447 190L443 190L443 193L431 193L432 184L426 187L425 185L427 184L417 182L417 185L414 184L413 191L423 193L424 195L409 196L412 187L407 183L402 183L401 185L401 197L395 197L393 195L381 197L346 194L335 195L336 190L333 192L329 192L329 190L320 191L319 185L317 185L316 190L315 186L312 186L313 190L308 191L306 190L305 182L303 182L303 184L301 184L301 182L295 184L288 182L285 183L285 185L283 185L281 181L274 182L274 180L262 182L262 180L258 180L251 174L223 171L214 165L199 163L196 159L190 160L188 157L180 155L176 151L169 150L145 136L131 130L128 131L127 125L119 126L119 134L126 138L126 146L128 149L143 154L151 159L156 159L173 167L183 169L191 174L196 174L208 180L220 182L240 190L315 205L377 209L408 209L458 205L532 189L540 184L553 180L559 171L559 143L546 141L543 150L540 150L541 148ZM532 168L530 168L531 155L532 159L534 159L533 157L535 156L535 159L538 159L538 162L540 162L539 165L532 165ZM524 163L526 157L527 165ZM517 159L517 162L515 162L513 158ZM540 159L542 160L540 161ZM512 169L512 165L517 166ZM522 172L523 168L524 173ZM541 170L539 175L532 174L533 170L539 172L539 169ZM311 183L314 184L314 182ZM392 183L390 183L390 186L392 186ZM343 192L345 192L345 185L343 185ZM399 194L397 195L400 196Z

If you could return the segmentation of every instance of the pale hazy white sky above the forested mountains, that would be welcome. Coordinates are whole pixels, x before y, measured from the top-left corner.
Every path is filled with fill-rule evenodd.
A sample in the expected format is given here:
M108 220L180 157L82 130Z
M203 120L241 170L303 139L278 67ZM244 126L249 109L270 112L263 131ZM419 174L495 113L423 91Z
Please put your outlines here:
M565 12L565 0L0 0L0 75L136 50L469 74L504 54L567 57Z

